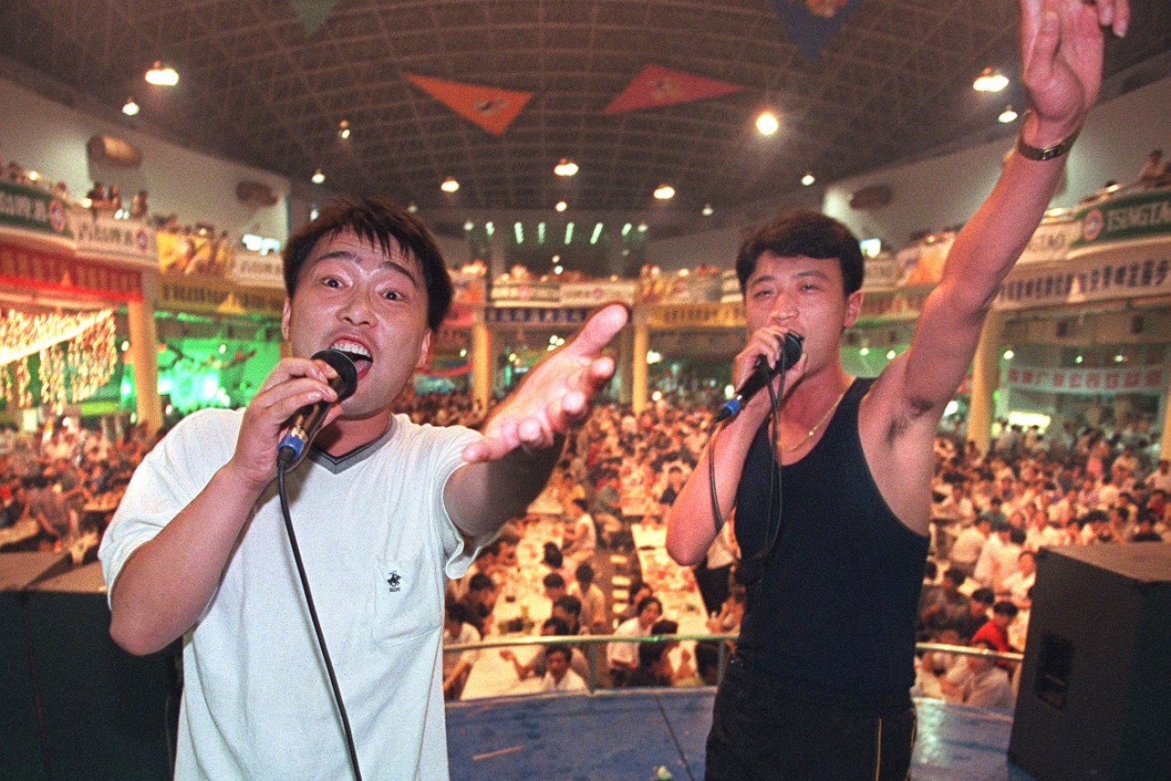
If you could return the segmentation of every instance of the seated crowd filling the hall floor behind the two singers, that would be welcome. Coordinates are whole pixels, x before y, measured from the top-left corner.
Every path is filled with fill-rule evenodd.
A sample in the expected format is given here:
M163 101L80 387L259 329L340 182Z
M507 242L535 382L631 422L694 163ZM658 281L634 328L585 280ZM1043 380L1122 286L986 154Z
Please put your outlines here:
M485 411L466 393L411 395L415 419L478 425ZM525 631L494 619L499 600L540 583L547 615L541 635L664 636L678 616L634 573L616 605L611 553L631 552L630 522L662 523L707 439L706 405L659 400L639 415L629 405L598 405L569 438L564 455L534 502L541 513L509 522L447 589L445 640L474 643ZM1148 440L1086 426L1067 446L1036 429L1005 424L987 454L953 434L937 438L931 554L925 566L918 638L993 651L1023 651L1036 552L1047 546L1162 542L1171 534L1171 466L1152 463ZM6 427L0 438L0 546L5 550L69 550L78 540L93 557L118 498L153 445L143 426L52 422L37 432ZM731 530L732 525L728 525ZM528 537L542 549L541 577L521 577L516 549ZM731 535L723 541L734 553ZM714 552L713 552L714 553ZM714 557L713 562L714 563ZM83 559L78 559L81 563ZM745 589L734 556L697 573L713 635L739 630ZM617 609L616 609L617 608ZM730 644L732 645L732 644ZM719 645L698 643L674 658L669 642L610 644L595 683L612 686L711 684ZM500 651L519 678L542 678L550 691L583 688L589 680L580 646L548 646L528 662ZM552 655L552 656L550 656ZM445 655L445 692L458 698L478 653ZM979 657L926 652L917 690L975 705L1011 707L1013 665Z

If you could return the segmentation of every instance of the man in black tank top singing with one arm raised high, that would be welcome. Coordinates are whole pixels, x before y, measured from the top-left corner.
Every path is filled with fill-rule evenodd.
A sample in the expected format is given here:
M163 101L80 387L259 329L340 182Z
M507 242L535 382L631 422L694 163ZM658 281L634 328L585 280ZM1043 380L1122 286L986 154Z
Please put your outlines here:
M932 444L987 309L1036 229L1101 83L1103 27L1125 0L1021 0L1030 110L995 189L952 245L911 347L850 377L842 333L863 260L842 224L787 214L737 258L748 340L741 385L801 357L712 436L667 518L667 549L700 561L735 508L748 602L715 699L707 779L905 779L915 740L915 619L927 553ZM714 492L714 495L713 495Z

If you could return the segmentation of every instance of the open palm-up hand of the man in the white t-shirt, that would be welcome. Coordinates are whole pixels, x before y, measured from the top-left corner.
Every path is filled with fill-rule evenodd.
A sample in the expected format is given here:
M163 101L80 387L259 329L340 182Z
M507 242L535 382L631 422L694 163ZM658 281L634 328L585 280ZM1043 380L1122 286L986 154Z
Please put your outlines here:
M464 448L464 460L493 461L518 447L552 447L589 415L590 402L614 376L602 349L626 324L626 308L610 304L590 315L573 340L536 365L492 413L484 438Z

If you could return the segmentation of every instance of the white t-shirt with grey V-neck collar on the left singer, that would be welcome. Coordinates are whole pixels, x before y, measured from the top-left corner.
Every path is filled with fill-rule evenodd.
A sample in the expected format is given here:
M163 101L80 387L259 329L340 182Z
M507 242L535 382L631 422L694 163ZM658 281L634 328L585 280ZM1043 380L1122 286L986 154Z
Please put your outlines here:
M192 415L146 457L102 541L111 589L135 549L227 463L241 418ZM461 575L475 552L443 487L477 437L398 415L378 440L342 459L313 451L286 480L363 777L447 779L444 578ZM274 481L185 636L176 779L349 777Z

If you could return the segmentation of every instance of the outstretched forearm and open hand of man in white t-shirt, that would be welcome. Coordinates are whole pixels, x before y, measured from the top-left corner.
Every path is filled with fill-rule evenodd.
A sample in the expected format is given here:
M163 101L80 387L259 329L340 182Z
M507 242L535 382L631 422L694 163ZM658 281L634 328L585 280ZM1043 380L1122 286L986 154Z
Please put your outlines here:
M497 407L484 438L464 450L467 464L444 491L447 512L464 534L491 534L541 492L566 432L589 416L590 402L614 376L614 358L602 350L625 324L621 304L590 315L569 343L537 364Z

